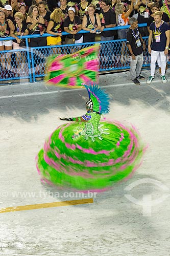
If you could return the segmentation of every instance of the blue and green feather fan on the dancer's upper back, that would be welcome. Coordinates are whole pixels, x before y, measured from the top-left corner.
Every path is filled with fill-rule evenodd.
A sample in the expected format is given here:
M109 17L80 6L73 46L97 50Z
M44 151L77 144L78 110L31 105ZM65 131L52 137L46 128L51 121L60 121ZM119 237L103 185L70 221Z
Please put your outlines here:
M100 114L109 113L109 96L102 90L97 84L92 86L86 86L89 99L93 104L93 111L99 112Z

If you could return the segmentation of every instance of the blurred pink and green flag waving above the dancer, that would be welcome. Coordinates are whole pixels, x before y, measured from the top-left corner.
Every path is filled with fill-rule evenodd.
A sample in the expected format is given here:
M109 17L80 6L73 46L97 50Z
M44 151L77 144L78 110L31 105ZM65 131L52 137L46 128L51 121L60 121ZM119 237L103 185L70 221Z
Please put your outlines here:
M98 82L98 50L99 45L94 45L76 53L49 57L46 82L74 89L82 83Z

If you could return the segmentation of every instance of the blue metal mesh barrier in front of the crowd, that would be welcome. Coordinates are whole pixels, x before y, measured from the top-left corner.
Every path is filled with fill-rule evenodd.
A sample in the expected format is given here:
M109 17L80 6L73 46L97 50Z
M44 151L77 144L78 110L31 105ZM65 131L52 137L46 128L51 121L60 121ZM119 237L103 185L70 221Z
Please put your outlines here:
M139 27L145 27L146 24L139 24ZM118 26L107 30L127 29L130 26ZM89 33L81 30L79 33ZM68 33L62 32L62 35ZM43 37L52 36L44 33ZM41 37L41 35L22 36L26 38L26 47L20 50L0 51L0 81L29 79L35 82L36 78L44 77L46 59L52 54L70 54L80 49L100 44L99 51L99 71L123 70L130 68L130 57L126 46L126 39L117 39L110 41L95 41L83 44L29 47L28 38ZM0 37L0 41L5 38ZM13 37L8 37L8 40ZM146 42L144 52L143 67L149 66L150 55L148 53L148 37L143 37Z

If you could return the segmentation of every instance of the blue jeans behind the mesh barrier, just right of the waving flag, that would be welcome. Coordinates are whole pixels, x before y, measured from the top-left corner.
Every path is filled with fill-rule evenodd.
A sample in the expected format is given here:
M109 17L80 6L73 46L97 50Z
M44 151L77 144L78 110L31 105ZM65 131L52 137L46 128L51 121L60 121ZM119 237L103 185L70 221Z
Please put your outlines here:
M114 40L114 36L101 36L101 41L110 41ZM101 44L101 58L104 61L112 61L113 60L113 44L112 42Z

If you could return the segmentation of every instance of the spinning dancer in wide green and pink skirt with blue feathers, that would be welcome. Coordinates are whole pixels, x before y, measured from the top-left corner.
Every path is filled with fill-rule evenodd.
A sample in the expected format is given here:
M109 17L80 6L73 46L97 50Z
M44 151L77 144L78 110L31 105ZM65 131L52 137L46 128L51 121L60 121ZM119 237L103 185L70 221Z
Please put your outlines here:
M109 97L97 85L85 86L89 100L81 117L57 127L37 156L41 180L58 187L102 191L127 179L140 165L143 145L135 129L101 121Z

